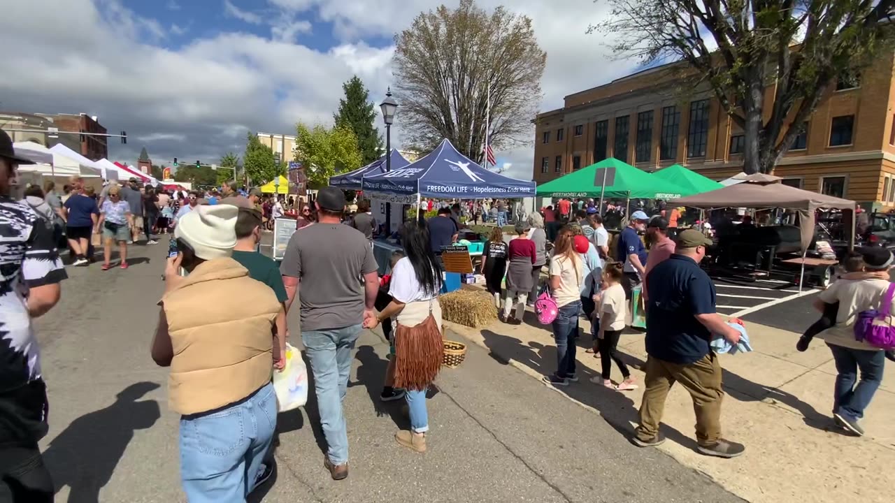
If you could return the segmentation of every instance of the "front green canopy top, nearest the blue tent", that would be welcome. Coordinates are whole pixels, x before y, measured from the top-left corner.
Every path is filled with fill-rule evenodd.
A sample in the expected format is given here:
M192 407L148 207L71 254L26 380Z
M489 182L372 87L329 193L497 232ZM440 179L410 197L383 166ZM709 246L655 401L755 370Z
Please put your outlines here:
M601 169L608 168L608 169ZM602 186L603 175L607 184ZM537 195L549 197L607 197L626 199L676 199L687 194L677 183L656 178L642 169L624 163L617 158L601 160L543 185L538 185Z

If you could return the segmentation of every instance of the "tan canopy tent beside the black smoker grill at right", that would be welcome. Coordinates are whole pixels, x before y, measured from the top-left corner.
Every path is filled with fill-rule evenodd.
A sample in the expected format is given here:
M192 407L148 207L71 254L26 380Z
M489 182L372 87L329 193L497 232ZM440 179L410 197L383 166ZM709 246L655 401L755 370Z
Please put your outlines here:
M783 208L795 209L799 215L802 252L814 238L814 212L817 209L841 209L848 227L848 247L855 246L855 201L840 199L817 192L804 191L780 183L780 177L772 175L747 175L743 183L729 185L711 192L703 192L686 198L670 200L675 206L691 208Z

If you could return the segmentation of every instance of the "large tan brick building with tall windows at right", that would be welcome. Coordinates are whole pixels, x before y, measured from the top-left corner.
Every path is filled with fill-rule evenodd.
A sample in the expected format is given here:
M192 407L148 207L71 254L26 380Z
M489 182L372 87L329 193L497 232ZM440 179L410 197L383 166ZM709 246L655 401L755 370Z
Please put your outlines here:
M895 57L840 79L775 167L783 183L895 207ZM538 115L533 180L545 183L604 158L647 171L687 166L714 180L742 171L743 134L708 89L686 94L660 66L570 94ZM772 103L773 89L765 100Z

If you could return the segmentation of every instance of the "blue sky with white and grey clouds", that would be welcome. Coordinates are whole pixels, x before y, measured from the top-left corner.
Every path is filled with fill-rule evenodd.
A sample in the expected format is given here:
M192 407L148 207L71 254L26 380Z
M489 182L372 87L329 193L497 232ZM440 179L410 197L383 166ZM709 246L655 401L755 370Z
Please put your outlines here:
M4 0L0 110L98 115L109 157L217 163L245 132L294 134L332 122L341 83L362 78L379 102L392 81L392 38L418 13L458 0ZM479 0L530 16L547 51L541 111L635 68L585 33L592 0ZM396 96L400 102L400 97ZM400 147L400 109L393 141ZM530 179L533 146L497 152Z

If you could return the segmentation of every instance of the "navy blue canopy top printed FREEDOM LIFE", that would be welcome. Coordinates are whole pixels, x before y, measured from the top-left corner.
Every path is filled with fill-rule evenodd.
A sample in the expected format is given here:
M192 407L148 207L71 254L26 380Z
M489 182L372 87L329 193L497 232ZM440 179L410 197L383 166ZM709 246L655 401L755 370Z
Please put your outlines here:
M458 152L450 141L401 169L364 175L364 193L393 202L411 203L421 197L439 199L523 198L534 195L534 182L489 171Z

